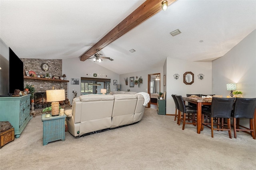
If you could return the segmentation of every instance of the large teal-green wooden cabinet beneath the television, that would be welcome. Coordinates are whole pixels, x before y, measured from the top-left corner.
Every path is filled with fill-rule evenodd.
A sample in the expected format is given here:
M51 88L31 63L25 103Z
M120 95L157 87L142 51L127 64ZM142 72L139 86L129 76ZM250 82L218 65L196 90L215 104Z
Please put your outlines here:
M32 119L32 115L30 115L30 95L0 97L0 121L11 123L16 138L20 137L22 130L30 119Z

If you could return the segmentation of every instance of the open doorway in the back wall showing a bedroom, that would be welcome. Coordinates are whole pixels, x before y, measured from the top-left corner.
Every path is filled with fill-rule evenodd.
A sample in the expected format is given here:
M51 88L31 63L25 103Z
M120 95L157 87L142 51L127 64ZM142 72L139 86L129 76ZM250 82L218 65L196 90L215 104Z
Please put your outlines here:
M157 77L159 77L159 80L156 79ZM150 102L147 105L148 108L150 108L151 105L155 108L158 94L161 90L160 77L160 73L148 74L148 94L150 95Z

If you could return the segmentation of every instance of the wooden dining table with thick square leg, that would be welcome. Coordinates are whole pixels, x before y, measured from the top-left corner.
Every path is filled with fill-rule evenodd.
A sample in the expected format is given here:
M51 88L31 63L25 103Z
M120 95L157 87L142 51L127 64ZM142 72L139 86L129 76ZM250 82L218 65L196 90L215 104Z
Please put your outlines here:
M198 134L202 128L202 105L212 105L212 99L201 97L182 97L184 102L190 102L196 104L196 131Z

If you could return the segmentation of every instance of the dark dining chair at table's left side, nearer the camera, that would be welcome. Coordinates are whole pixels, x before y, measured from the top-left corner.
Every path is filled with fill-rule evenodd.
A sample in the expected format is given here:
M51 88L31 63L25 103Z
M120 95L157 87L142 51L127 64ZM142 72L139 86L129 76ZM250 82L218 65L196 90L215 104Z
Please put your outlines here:
M186 107L182 96L176 95L175 97L178 101L179 109L180 109L180 112L178 114L178 125L180 125L180 122L183 122L182 130L184 130L185 124L192 124L196 126L196 116L195 116L197 113L196 109L194 107ZM181 118L181 113L183 113L182 118ZM186 116L186 114L192 114L192 116L191 117L190 115ZM192 121L192 123L187 121Z

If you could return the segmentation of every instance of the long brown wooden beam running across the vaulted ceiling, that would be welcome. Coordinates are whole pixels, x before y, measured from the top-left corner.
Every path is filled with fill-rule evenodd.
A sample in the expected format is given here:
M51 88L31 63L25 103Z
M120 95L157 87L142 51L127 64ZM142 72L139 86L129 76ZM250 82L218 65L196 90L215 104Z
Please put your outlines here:
M132 12L128 17L126 17L122 22L120 22L113 30L111 30L106 36L104 36L100 41L94 44L90 49L84 52L80 56L80 61L85 61L94 55L98 50L106 47L108 44L118 39L122 35L126 34L148 18L154 16L154 14L162 10L163 0L146 0L142 5L140 5L134 12ZM168 6L175 2L176 0L167 0Z

